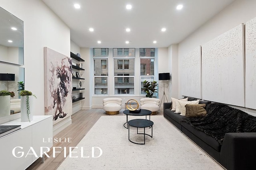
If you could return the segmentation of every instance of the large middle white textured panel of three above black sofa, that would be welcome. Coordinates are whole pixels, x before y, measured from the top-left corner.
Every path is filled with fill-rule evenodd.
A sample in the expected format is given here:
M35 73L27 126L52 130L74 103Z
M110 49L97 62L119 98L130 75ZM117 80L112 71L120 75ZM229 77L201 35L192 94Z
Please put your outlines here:
M244 24L202 45L202 98L244 107Z

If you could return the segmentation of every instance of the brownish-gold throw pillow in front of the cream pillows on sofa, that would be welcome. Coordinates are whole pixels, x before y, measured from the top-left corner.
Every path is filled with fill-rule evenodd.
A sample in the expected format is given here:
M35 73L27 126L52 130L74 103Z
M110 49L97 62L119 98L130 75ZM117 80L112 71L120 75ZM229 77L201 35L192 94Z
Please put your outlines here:
M206 104L186 104L186 117L203 117L206 115Z

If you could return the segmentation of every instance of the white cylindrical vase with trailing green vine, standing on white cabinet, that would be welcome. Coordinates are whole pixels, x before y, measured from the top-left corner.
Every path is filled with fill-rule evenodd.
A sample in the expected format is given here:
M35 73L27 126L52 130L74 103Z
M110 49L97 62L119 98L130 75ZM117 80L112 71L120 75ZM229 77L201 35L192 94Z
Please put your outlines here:
M21 121L32 121L34 113L34 96L29 97L30 114L27 113L27 96L20 96L20 119Z

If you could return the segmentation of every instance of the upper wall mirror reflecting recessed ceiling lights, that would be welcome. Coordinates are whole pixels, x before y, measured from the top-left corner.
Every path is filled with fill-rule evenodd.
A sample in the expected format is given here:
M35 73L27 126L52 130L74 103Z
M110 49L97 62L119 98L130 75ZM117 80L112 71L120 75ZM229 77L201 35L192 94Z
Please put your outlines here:
M23 65L23 21L0 7L0 23L0 61Z

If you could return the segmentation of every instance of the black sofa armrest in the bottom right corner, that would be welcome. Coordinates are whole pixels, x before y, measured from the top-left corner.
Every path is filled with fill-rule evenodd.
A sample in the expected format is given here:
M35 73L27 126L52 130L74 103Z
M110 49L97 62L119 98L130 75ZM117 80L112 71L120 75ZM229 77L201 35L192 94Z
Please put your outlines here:
M228 170L256 167L256 133L226 133L220 150L220 163Z

